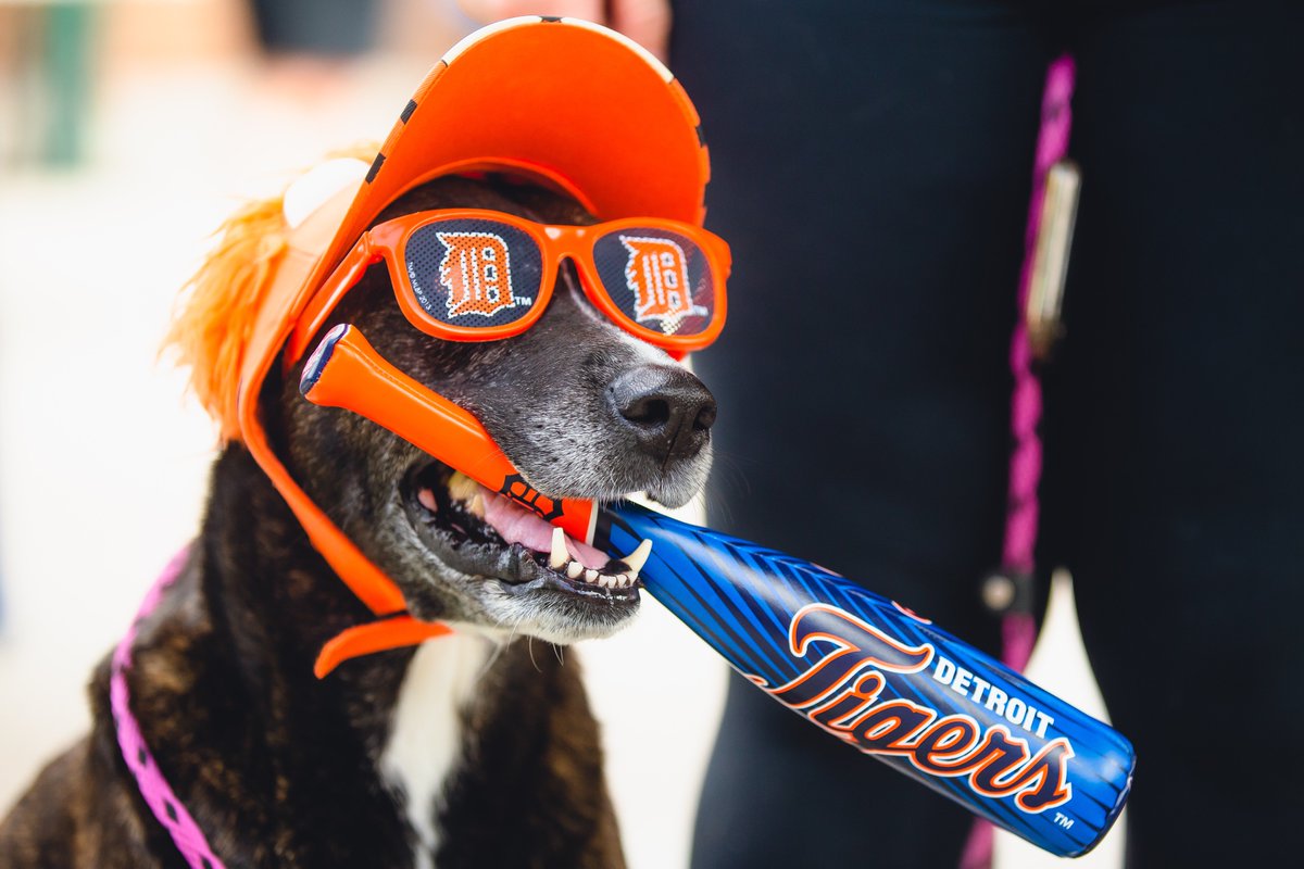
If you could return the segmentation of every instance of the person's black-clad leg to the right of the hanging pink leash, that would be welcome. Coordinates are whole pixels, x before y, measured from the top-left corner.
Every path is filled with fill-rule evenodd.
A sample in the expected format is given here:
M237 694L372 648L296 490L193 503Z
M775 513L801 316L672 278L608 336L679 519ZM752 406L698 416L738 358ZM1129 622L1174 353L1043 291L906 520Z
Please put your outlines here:
M1043 529L1136 744L1137 866L1300 860L1300 9L1132 9L1076 50Z

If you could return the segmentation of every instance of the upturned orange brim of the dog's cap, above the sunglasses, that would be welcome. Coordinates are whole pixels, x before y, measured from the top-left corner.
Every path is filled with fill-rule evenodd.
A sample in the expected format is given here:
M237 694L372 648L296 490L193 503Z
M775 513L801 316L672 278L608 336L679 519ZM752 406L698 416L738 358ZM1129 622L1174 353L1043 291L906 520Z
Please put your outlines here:
M687 223L702 221L709 173L692 103L644 48L587 21L510 18L459 42L421 83L326 261L406 190L482 168L549 178L604 220Z

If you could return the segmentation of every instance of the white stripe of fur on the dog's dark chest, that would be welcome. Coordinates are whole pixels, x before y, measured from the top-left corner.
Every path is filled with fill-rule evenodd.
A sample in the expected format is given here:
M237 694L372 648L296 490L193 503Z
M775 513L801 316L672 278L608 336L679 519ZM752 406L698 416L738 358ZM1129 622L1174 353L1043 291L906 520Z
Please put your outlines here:
M424 642L403 676L381 754L381 776L406 804L417 836L417 869L433 865L437 800L462 754L459 713L473 696L493 649L492 640L454 632Z

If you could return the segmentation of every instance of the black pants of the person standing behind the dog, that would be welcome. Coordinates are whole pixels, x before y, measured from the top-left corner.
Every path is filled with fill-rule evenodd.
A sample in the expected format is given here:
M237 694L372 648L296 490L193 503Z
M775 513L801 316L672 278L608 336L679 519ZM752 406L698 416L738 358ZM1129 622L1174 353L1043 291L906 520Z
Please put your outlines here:
M1051 13L1038 12L1055 7ZM711 522L995 651L1046 66L1084 188L1039 564L1138 753L1132 866L1287 865L1304 809L1300 4L711 0L672 68L733 245ZM969 816L735 680L695 862L952 866Z

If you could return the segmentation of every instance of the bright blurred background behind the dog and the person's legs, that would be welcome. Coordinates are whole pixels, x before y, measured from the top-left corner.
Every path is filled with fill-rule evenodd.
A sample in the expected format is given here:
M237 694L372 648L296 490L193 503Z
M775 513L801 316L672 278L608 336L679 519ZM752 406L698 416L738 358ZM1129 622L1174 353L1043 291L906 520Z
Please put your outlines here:
M87 728L91 667L197 529L215 430L156 354L210 233L383 138L473 29L454 0L266 5L306 31L243 0L0 0L0 814ZM580 655L630 865L683 866L725 666L649 599ZM1103 715L1068 577L1030 670ZM1111 839L1080 865L1119 865ZM998 864L1061 865L1005 836Z

